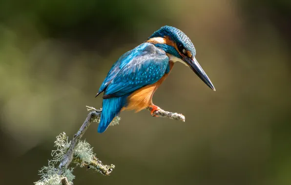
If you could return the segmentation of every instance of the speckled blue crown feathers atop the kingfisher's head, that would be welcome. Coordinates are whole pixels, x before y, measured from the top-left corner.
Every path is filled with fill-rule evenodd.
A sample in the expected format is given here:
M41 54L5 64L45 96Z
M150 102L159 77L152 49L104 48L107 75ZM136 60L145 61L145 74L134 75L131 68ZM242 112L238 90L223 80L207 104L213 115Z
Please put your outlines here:
M196 55L196 50L191 42L190 38L188 38L181 30L172 27L172 26L163 26L156 32L154 32L149 38L153 37L165 37L169 36L175 43L181 43L185 49L191 52L193 56ZM166 44L165 44L166 45ZM166 51L166 50L165 50ZM169 50L171 52L171 50ZM173 55L173 54L172 54ZM174 55L176 56L176 55ZM178 57L178 56L176 56Z

